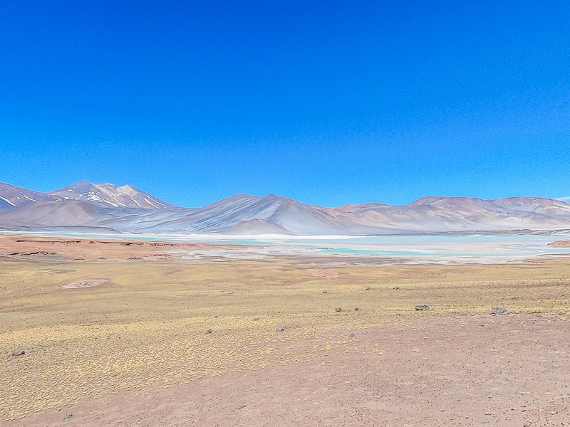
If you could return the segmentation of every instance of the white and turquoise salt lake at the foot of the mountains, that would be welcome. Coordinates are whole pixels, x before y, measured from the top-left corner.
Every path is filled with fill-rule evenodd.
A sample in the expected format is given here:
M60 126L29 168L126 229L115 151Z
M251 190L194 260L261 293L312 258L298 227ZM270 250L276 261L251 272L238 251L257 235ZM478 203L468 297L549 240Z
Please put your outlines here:
M87 238L113 241L164 241L254 246L264 253L306 249L311 254L395 258L527 258L539 255L570 255L570 248L551 248L547 243L570 240L564 233L440 233L402 236L252 236L231 238L216 235L143 235L90 233L19 233L25 236Z

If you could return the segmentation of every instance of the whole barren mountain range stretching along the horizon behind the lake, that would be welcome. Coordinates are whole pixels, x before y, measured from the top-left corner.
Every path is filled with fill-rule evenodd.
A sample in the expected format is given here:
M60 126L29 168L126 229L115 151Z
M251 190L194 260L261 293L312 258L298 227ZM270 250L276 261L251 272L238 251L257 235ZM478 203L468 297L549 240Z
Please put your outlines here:
M570 204L538 197L423 197L408 205L309 206L236 194L203 208L169 204L133 186L81 181L41 193L0 183L0 228L123 233L380 235L570 228Z

